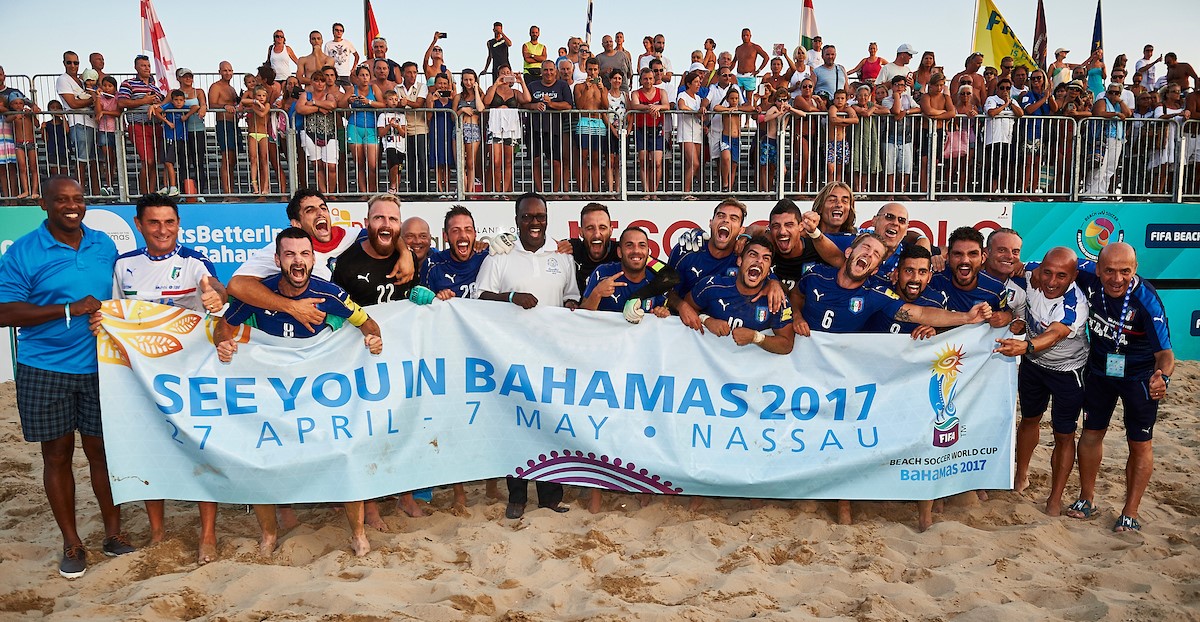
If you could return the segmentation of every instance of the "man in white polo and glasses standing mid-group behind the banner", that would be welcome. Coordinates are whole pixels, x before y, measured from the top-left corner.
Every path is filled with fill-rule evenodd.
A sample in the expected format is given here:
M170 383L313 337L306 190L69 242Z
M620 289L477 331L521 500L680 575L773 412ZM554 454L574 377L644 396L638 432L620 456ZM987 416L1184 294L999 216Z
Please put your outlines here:
M506 301L521 309L565 306L575 310L580 288L575 282L575 259L546 249L548 211L546 199L527 192L516 201L517 244L504 255L490 255L479 268L479 298ZM538 506L563 513L563 485L538 482ZM520 519L529 501L529 482L509 478L509 504L504 515Z

